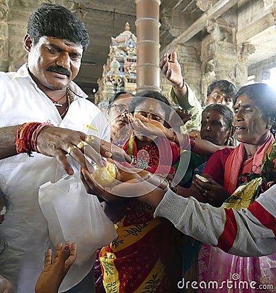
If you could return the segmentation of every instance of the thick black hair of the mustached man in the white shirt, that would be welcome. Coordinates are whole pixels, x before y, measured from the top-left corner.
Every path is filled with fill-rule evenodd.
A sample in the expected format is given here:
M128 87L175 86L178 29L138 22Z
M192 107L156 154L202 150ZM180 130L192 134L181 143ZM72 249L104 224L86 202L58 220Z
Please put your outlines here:
M86 50L89 35L84 26L72 12L57 4L42 4L35 9L28 20L28 34L36 45L41 37L66 39Z

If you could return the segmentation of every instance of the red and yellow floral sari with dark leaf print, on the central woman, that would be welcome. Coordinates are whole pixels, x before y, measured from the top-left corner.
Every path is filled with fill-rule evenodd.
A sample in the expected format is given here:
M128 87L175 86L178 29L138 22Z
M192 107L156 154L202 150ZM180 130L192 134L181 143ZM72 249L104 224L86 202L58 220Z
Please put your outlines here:
M147 170L158 174L173 172L170 165L179 156L175 144L160 138L137 151L135 137L130 137L124 149L137 157L140 154L141 159L148 154ZM177 292L181 262L176 250L179 233L173 225L166 219L155 219L149 205L131 199L115 228L117 239L99 254L106 292Z

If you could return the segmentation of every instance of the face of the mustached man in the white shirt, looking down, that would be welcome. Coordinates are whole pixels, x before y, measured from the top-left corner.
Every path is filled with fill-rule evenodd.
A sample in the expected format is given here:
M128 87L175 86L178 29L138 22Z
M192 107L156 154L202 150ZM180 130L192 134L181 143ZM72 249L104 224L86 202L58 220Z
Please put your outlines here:
M63 39L41 37L34 45L26 34L24 46L28 51L30 74L39 85L60 90L75 79L81 65L83 48Z

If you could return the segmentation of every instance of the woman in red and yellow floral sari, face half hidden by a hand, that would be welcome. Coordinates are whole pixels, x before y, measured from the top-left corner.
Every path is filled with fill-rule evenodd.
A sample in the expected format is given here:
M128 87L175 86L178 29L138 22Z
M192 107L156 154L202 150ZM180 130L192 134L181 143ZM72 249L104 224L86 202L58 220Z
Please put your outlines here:
M164 96L153 91L140 94L144 97L135 97L130 103L132 112L160 123L168 121L170 106ZM179 157L179 146L168 139L134 131L123 148L136 168L155 174L175 171L171 166ZM115 210L116 204L112 208ZM150 206L136 199L126 201L124 215L115 223L117 239L99 254L106 292L175 292L175 272L179 270L172 249L177 231L173 225L154 219Z

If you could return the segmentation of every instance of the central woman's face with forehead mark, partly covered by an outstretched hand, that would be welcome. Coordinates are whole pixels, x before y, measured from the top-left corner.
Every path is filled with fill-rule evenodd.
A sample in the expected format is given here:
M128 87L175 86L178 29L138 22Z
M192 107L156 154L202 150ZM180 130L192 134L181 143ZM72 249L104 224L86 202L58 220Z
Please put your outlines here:
M162 103L161 101L149 98L148 100L143 101L141 104L137 105L137 107L135 108L135 113L164 124L164 121L166 119L166 112L164 108L162 108L163 104L164 103ZM168 105L166 106L168 107ZM165 107L165 105L163 107ZM140 141L152 141L156 138L156 136L153 137L149 135L147 137L144 137L143 134L138 132L135 132L135 135Z

